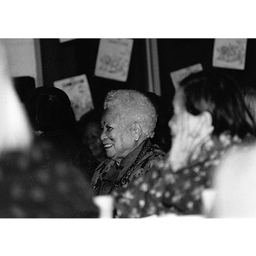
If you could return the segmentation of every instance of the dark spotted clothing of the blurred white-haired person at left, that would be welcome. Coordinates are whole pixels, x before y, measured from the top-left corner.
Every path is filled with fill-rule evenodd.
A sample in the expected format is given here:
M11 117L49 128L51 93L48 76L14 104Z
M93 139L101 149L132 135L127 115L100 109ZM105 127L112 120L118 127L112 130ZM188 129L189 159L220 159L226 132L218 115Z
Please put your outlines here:
M90 183L48 143L0 158L0 218L97 218Z

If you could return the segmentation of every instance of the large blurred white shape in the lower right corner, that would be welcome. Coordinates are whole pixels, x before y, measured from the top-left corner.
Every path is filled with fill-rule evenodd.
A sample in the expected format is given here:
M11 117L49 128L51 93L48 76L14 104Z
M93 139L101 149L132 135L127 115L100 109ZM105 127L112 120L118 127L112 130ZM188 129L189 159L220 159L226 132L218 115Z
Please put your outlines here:
M256 218L256 143L245 143L218 166L208 218Z

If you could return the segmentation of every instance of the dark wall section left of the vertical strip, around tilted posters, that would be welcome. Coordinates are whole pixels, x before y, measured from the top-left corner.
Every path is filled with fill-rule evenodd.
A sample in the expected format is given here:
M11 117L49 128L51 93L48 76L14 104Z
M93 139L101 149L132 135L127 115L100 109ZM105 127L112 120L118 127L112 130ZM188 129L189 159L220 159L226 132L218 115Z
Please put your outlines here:
M90 85L94 106L102 107L109 90L147 90L148 71L145 39L134 39L129 74L126 82L103 79L94 75L100 39L40 39L45 86L56 80L85 74Z

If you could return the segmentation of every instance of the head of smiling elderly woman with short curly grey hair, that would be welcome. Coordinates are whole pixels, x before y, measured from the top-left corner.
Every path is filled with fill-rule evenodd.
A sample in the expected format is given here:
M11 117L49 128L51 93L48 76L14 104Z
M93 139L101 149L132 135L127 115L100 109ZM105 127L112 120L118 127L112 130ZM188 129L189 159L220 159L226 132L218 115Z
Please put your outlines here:
M137 90L112 90L105 98L101 140L109 158L121 160L154 137L157 113Z

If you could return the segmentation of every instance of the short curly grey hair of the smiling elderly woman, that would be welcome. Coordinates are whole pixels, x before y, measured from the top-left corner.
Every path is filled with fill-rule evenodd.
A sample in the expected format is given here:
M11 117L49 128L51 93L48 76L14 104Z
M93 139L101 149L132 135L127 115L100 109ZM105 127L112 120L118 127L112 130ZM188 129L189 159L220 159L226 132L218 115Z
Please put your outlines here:
M152 102L142 92L111 90L105 97L103 108L115 108L121 115L130 116L142 125L144 137L154 137L158 115Z

